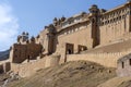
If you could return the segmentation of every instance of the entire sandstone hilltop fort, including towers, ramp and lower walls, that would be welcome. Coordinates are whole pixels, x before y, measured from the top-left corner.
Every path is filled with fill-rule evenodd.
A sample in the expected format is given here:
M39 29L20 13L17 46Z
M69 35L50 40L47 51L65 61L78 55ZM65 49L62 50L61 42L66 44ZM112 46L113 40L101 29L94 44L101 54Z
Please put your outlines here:
M87 60L117 67L119 58L131 52L131 1L111 10L93 4L90 13L55 17L37 37L17 36L1 72L29 76L40 69L68 61Z

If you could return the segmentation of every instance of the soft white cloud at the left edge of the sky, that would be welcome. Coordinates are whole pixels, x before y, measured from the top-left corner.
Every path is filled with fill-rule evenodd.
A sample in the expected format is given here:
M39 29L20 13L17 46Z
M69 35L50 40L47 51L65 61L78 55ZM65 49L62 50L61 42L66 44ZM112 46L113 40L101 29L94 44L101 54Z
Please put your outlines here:
M0 3L0 51L9 49L19 32L17 17L9 4Z

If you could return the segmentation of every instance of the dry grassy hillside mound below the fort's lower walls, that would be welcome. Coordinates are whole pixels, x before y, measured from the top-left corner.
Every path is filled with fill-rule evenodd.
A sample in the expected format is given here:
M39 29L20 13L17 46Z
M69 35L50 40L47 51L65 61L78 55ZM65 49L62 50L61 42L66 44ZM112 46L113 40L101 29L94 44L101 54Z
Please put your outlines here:
M34 76L14 80L8 87L97 87L115 76L115 69L78 61L39 70Z

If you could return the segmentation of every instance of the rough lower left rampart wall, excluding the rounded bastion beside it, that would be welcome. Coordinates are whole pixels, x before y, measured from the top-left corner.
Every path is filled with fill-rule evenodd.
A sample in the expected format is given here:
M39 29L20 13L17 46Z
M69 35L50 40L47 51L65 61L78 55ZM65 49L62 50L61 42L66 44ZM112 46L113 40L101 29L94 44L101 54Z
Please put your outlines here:
M19 73L19 75L22 77L26 77L35 74L36 71L44 69L45 63L46 63L46 59L36 60L33 62L23 63L23 64L12 63L11 71L13 71L14 73Z

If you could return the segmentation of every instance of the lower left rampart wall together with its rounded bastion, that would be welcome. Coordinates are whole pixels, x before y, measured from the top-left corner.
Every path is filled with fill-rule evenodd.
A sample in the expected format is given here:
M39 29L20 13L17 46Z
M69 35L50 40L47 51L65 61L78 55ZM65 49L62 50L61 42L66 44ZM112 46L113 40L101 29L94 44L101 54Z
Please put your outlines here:
M12 63L11 71L14 73L19 73L22 77L27 77L35 74L37 71L41 69L46 69L49 66L55 66L59 64L59 58L57 57L45 57L39 60L34 60L27 63Z

